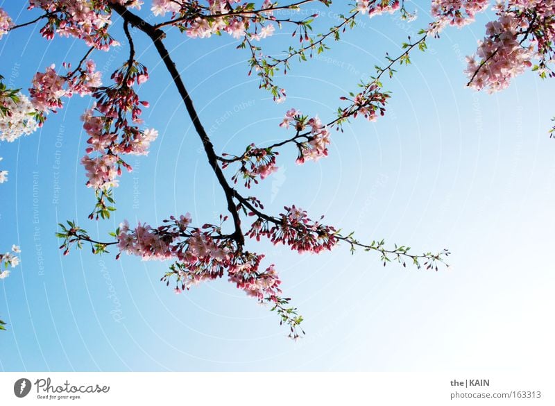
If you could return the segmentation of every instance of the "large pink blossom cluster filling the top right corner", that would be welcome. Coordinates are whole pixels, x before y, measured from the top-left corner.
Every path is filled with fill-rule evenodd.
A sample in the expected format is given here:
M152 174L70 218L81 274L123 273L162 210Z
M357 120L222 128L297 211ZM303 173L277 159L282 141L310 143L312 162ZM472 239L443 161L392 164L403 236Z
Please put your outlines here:
M488 22L486 37L468 58L469 85L497 92L531 67L542 77L553 76L555 1L509 0L497 3L495 10L497 20Z

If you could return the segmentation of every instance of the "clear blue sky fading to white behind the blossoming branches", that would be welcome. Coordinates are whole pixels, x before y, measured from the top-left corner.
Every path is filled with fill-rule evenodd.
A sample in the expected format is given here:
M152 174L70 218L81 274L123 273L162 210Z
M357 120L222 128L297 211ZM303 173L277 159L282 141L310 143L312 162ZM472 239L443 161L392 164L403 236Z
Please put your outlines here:
M35 14L21 3L0 0L26 22ZM338 5L316 25L334 24ZM289 108L332 117L339 96L427 24L428 1L407 6L418 8L416 22L363 17L323 56L293 62L277 79L288 90L280 105L247 76L248 53L227 35L191 40L170 31L167 44L216 151L240 152L290 136L278 127ZM296 151L284 149L280 171L255 186L268 212L294 203L361 240L452 252L452 268L432 272L384 268L377 255L350 255L347 246L298 255L249 242L275 263L284 294L306 319L307 335L297 342L275 314L225 279L178 296L160 282L162 262L58 251L54 232L65 219L103 238L123 219L159 224L190 212L199 224L225 212L167 71L135 33L137 57L151 71L139 90L151 102L144 118L160 137L148 157L131 158L135 170L115 190L112 219L87 219L94 195L78 162L88 98L75 96L39 132L0 145L2 169L10 171L0 185L0 248L22 248L22 264L0 281L0 316L8 323L0 370L547 370L555 362L555 140L547 134L554 83L527 73L499 94L466 89L464 56L475 51L486 19L430 39L429 52L415 53L411 66L385 80L393 92L385 117L334 132L329 157L316 163L298 166ZM35 71L76 62L86 51L74 40L48 42L39 28L0 41L0 73L14 87L25 89ZM121 49L94 54L106 81L127 55L117 19L112 33ZM262 44L280 51L290 40L284 31Z

